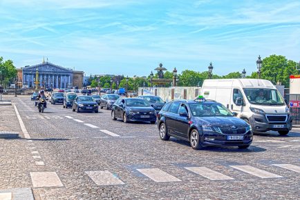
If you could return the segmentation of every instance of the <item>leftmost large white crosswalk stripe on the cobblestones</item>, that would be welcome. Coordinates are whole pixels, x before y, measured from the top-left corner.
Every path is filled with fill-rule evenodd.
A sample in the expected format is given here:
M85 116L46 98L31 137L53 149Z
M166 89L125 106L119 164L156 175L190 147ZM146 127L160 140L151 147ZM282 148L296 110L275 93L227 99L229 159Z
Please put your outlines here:
M56 172L30 172L34 188L64 187Z

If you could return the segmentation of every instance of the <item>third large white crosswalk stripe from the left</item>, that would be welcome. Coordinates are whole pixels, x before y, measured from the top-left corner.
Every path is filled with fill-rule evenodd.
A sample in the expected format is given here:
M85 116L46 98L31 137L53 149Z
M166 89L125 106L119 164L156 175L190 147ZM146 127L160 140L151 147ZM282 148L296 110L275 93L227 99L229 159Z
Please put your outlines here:
M168 174L167 172L164 172L158 168L142 168L137 170L158 183L181 181L180 179L177 179L171 174Z

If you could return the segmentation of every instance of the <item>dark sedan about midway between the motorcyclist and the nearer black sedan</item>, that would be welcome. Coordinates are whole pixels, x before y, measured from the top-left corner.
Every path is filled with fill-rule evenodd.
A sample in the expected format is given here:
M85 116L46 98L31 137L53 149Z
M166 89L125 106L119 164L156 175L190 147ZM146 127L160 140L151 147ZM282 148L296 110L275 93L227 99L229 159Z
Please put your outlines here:
M78 96L73 101L73 112L89 111L98 112L98 103L91 96Z

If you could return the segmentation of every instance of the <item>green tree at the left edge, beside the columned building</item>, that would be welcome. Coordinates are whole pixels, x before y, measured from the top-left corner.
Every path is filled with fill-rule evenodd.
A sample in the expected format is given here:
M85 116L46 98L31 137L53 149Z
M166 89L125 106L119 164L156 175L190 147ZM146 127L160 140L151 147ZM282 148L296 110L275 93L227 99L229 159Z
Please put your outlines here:
M8 85L12 79L17 77L17 70L11 60L3 61L0 57L0 85Z

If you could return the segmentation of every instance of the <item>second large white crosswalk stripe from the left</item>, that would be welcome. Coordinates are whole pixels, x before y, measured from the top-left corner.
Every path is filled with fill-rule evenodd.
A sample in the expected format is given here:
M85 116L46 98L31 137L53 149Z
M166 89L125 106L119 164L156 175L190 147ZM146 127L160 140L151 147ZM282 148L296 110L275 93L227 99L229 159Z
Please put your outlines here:
M112 174L108 170L104 171L87 171L88 177L90 177L97 186L110 186L110 185L123 185L117 175Z

